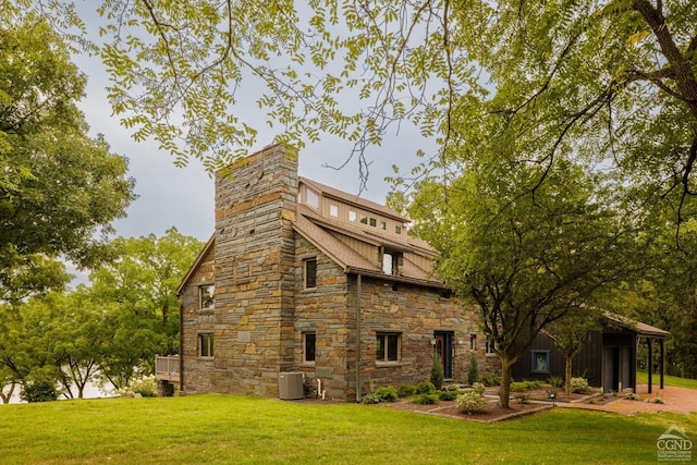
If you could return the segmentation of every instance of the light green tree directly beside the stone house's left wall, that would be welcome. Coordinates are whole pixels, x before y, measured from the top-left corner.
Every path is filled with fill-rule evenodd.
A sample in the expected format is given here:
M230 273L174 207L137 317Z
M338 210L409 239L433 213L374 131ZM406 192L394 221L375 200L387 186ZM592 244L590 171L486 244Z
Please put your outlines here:
M91 299L106 311L111 340L100 375L125 388L134 370L149 372L156 354L179 350L176 287L203 244L171 228L162 237L117 237L115 259L90 276Z

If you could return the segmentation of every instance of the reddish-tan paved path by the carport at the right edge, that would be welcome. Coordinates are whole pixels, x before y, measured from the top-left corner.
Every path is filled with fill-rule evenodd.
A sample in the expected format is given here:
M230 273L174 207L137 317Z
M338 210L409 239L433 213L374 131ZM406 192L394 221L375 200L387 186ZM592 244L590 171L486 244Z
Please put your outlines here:
M612 412L622 415L661 412L687 414L697 412L697 390L694 389L667 386L664 389L659 390L658 387L653 387L653 393L648 394L648 386L643 384L637 387L637 393L641 397L641 400L660 397L664 403L655 404L651 402L628 401L626 399L623 399L622 396L619 396L616 401L610 402L604 405L594 405L585 403L559 403L557 405L566 408L586 408L591 411Z

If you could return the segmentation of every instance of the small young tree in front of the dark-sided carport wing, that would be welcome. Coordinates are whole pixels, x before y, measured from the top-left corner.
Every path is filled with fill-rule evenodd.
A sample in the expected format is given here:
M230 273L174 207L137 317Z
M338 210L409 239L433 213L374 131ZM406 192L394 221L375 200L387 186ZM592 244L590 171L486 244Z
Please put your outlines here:
M564 391L567 394L572 391L574 357L584 347L590 333L600 329L600 311L595 308L576 308L540 331L552 340L564 356Z

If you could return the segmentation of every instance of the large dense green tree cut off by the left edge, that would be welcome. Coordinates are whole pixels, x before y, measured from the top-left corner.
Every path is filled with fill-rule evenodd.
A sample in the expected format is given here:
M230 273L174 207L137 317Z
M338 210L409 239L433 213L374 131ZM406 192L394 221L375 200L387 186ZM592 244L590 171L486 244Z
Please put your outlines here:
M3 21L0 50L0 298L17 302L65 284L58 257L101 257L133 181L124 157L87 136L85 76L44 21Z

